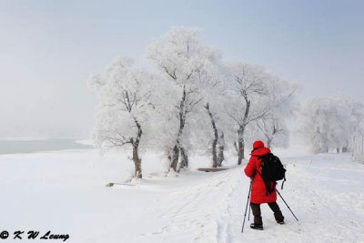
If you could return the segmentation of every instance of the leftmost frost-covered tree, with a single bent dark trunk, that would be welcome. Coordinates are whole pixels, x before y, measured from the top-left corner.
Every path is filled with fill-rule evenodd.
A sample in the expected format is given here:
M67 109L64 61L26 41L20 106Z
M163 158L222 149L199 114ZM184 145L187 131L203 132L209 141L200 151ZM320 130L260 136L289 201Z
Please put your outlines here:
M98 147L132 149L134 177L142 177L139 149L148 135L153 112L153 82L146 70L133 66L130 58L116 58L104 73L89 78L96 89L96 125L93 139Z

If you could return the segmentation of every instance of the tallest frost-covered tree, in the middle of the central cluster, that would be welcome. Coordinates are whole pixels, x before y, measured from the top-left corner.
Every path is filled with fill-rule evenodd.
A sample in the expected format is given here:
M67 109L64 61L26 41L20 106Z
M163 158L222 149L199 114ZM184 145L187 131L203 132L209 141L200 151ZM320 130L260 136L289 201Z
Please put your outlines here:
M147 58L179 90L175 100L170 101L174 105L172 114L166 113L172 120L177 118L176 123L167 125L173 138L166 146L170 167L175 171L187 166L188 142L185 130L188 116L202 100L197 82L198 70L206 62L213 62L217 58L215 51L199 43L197 34L198 30L195 28L174 27L147 47Z

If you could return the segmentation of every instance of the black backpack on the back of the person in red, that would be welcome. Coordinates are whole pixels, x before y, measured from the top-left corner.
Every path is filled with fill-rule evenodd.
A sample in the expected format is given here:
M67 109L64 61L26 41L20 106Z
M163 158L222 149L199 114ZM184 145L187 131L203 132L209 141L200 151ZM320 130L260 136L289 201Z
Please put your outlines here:
M286 181L286 169L283 167L282 162L280 162L279 157L276 157L272 153L264 155L261 158L260 167L262 169L262 174L258 173L266 185L267 193L271 194L274 192L276 187L276 181L284 179L283 184ZM274 183L272 183L274 182Z

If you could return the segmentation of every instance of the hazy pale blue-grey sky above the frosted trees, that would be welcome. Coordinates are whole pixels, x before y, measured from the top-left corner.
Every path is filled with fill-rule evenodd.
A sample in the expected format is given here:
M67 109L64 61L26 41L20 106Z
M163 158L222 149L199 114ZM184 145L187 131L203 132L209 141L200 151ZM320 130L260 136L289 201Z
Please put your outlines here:
M0 0L0 137L87 137L86 86L116 56L141 60L171 26L297 82L300 99L364 102L364 1Z

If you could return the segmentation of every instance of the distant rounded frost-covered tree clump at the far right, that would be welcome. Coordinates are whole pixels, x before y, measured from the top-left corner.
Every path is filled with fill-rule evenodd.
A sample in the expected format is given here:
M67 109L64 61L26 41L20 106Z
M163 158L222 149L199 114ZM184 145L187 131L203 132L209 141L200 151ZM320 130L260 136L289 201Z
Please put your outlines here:
M315 153L345 150L360 108L357 102L340 96L309 98L300 113L299 130Z

